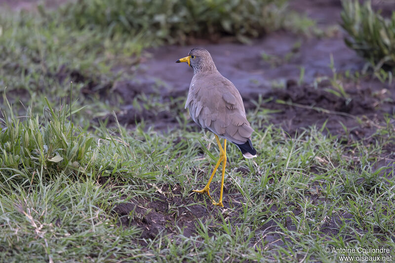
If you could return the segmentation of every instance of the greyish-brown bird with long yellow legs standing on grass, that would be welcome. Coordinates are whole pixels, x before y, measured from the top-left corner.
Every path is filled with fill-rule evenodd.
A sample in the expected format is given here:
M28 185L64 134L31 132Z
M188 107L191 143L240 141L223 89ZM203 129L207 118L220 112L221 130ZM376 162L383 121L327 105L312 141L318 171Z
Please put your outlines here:
M210 53L201 47L189 51L188 56L180 58L176 63L187 62L194 70L185 109L189 109L191 118L201 128L214 133L219 148L219 158L213 172L201 190L207 193L213 205L224 207L222 203L224 177L226 167L226 143L234 143L245 158L254 158L257 151L252 146L253 129L245 115L244 104L235 85L217 70ZM222 147L219 137L224 139ZM222 162L222 180L219 201L210 196L210 184Z

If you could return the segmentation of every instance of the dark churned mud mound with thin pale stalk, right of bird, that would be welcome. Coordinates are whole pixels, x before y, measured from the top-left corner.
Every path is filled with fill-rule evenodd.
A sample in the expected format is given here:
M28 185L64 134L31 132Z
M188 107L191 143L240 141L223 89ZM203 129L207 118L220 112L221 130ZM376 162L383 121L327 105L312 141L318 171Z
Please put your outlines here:
M371 135L378 125L383 124L384 114L395 113L394 103L386 102L395 99L389 87L382 88L381 83L370 81L344 83L348 94L345 98L330 93L330 90L336 89L328 82L318 85L318 88L290 85L264 94L263 98L270 101L263 107L277 110L270 121L281 125L290 134L311 125L321 128L326 122L324 133L344 135L345 125L354 139L359 140Z

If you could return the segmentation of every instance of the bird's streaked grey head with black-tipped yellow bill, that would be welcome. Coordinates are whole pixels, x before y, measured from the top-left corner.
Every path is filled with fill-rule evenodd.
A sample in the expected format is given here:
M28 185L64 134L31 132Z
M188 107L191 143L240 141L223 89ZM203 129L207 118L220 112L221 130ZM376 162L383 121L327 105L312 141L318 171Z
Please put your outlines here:
M210 53L201 47L196 47L189 51L188 56L180 58L176 63L187 62L188 66L194 69L194 73L199 71L213 71L217 70Z

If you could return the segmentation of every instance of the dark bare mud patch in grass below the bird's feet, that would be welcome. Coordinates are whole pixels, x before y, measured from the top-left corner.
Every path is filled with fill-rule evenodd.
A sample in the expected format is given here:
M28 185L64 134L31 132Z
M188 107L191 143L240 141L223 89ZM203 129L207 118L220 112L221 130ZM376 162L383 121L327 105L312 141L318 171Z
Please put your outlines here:
M116 205L112 211L118 216L119 224L125 227L139 226L143 239L154 239L159 233L177 235L179 229L182 229L184 236L189 237L196 233L198 220L211 222L212 215L224 212L223 208L211 206L206 195L193 193L197 198L194 201L192 196L182 197L180 186L171 187L171 191L165 190L169 189L168 186L158 188L153 200L136 198ZM207 207L203 205L204 200L209 203ZM229 208L229 203L226 203L225 211ZM220 220L218 217L218 222Z

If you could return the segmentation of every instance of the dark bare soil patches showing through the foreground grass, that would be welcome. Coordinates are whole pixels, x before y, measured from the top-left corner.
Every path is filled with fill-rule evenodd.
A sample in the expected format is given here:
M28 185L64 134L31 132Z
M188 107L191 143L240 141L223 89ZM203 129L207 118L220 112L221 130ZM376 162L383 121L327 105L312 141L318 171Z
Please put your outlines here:
M213 184L215 185L215 183ZM157 192L156 199L135 198L128 202L120 203L113 208L112 212L118 216L119 225L122 227L139 226L141 229L139 243L142 246L147 245L146 240L155 239L160 233L170 234L173 236L174 242L178 242L179 229L182 229L184 236L193 236L199 227L197 223L199 220L204 225L207 225L208 228L215 228L217 224L223 224L219 213L222 214L223 219L228 224L239 224L239 210L242 209L239 201L243 200L239 192L227 192L225 189L224 208L220 208L210 205L210 200L206 195L193 193L197 197L197 200L194 201L192 196L182 198L182 192L180 192L178 185L172 185L172 187L173 189L169 191L162 190L168 188L167 186L161 187L161 190ZM316 205L325 202L325 196L321 196L316 192L311 193L309 196ZM213 198L218 199L218 196L213 196ZM208 203L207 205L203 205L204 200ZM271 213L282 213L285 210L289 212L288 207L295 205L290 203L287 208L284 208L284 211L277 211L276 205L271 205L272 200L267 199L265 203L268 205ZM230 206L236 209L228 209ZM294 209L292 213L297 216L301 213L301 210ZM269 211L268 214L260 213L259 218L256 220L264 222L268 219L269 214ZM352 215L347 212L333 216L321 222L320 231L323 234L336 235L340 231L338 225L342 224L342 220L352 221L352 219ZM296 229L296 225L289 217L285 219L284 226L289 230ZM261 241L266 241L267 247L284 245L284 240L292 242L286 238L283 240L280 234L275 233L276 230L280 230L275 219L261 225L260 229L256 231L255 237L250 240L252 247L261 244ZM357 226L356 229L360 232L364 231Z

